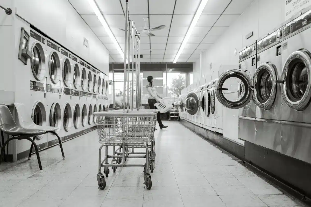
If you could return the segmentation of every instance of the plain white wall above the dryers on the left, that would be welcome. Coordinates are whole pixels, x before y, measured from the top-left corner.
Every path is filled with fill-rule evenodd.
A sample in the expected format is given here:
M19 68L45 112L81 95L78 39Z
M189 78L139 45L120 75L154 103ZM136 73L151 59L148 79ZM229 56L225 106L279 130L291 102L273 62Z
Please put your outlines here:
M16 14L108 75L108 50L69 1L15 0L15 7ZM89 47L83 45L84 38Z

